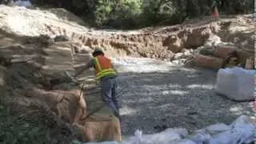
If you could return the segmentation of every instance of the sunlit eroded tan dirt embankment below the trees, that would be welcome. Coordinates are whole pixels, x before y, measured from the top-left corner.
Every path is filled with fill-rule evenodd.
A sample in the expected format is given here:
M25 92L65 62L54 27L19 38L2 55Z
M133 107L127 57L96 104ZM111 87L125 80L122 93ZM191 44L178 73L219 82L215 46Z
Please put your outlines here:
M196 49L198 46L203 46L210 35L214 34L223 42L234 42L238 48L254 49L253 45L246 45L247 41L253 41L252 15L223 16L218 22L206 17L187 20L177 26L114 31L88 29L74 21L66 21L65 19L69 18L63 18L62 10L54 10L54 13L51 13L18 7L1 7L0 14L2 23L0 27L3 30L22 35L47 34L50 37L65 35L70 41L78 42L76 46L78 48L89 46L90 50L95 46L101 46L106 50L106 54L112 57L174 60L174 54L185 53L186 50L182 49ZM68 14L64 15L68 17Z

